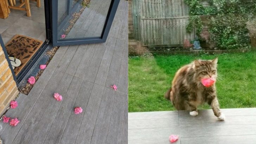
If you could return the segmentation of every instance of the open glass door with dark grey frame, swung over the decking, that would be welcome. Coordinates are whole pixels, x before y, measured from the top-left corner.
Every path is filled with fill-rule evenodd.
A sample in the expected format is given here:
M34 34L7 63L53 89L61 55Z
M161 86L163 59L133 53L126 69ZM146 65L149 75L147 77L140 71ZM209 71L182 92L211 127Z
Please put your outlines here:
M52 0L53 46L105 42L120 0Z

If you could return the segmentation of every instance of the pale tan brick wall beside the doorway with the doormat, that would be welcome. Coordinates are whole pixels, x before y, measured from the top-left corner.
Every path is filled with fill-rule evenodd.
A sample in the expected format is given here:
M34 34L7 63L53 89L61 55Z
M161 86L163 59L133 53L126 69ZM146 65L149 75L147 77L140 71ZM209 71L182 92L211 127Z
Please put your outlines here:
M11 100L19 94L11 69L0 46L0 116L6 111Z

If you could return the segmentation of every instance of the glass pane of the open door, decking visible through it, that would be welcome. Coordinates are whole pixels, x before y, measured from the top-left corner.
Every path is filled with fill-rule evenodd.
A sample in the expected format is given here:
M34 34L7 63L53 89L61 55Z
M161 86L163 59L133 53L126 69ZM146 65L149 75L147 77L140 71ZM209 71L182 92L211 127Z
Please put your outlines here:
M101 37L111 0L59 0L58 40Z

